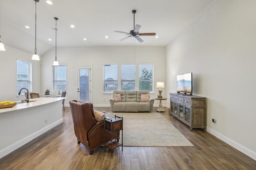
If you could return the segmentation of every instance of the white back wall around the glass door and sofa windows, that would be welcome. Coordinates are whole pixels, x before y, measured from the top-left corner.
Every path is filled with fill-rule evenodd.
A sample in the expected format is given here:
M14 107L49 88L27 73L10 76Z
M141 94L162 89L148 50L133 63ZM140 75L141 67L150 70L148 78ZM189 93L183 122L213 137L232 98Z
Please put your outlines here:
M65 106L69 106L70 100L77 100L77 66L92 66L92 103L94 106L110 106L109 99L112 94L103 94L103 65L118 64L120 78L120 65L130 64L136 60L138 63L154 64L154 94L157 97L156 82L166 82L166 47L58 47L57 60L61 64L67 64L67 94ZM42 57L42 89L52 88L52 63L55 60L55 49L52 49ZM138 80L138 76L136 76ZM137 81L138 82L138 81ZM138 84L137 84L138 88ZM120 86L119 86L120 90ZM163 94L166 88L163 89ZM105 102L103 102L105 100ZM158 102L156 101L155 104ZM166 101L163 101L163 105Z

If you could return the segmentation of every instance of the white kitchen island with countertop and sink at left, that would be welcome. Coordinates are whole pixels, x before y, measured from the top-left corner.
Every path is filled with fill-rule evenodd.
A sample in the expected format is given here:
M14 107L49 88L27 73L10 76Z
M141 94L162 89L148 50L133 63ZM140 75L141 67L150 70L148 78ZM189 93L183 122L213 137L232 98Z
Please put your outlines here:
M0 109L0 158L62 123L63 99L34 98Z

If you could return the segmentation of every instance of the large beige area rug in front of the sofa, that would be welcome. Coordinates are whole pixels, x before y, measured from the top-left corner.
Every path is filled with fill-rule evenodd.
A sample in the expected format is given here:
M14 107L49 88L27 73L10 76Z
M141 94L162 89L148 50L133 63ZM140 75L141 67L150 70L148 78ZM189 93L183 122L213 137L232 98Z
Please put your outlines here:
M123 117L123 146L194 146L160 113L108 113L107 117L113 117L115 115ZM122 137L121 134L120 139Z

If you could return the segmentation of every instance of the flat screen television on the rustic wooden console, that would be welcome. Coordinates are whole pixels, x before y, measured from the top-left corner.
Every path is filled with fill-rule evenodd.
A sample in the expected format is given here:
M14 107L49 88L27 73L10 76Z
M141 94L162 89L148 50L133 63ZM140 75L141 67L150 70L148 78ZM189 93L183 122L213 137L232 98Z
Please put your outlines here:
M177 75L177 93L192 95L192 72Z

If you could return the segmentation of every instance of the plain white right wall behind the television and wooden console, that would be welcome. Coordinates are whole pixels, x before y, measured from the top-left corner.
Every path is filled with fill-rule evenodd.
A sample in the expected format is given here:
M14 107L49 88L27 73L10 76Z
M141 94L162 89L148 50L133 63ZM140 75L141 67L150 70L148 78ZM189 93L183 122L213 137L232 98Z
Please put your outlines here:
M207 131L254 159L255 7L255 0L213 1L166 52L167 92L176 92L177 74L192 72L193 95L207 98Z

